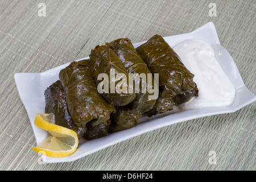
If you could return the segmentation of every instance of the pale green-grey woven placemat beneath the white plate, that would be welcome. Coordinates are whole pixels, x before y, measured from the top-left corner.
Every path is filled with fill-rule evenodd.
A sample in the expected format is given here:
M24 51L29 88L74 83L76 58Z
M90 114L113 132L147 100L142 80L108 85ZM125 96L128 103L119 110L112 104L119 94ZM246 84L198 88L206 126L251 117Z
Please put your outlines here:
M89 55L97 44L127 37L191 32L212 21L246 87L255 94L255 0L0 1L0 169L255 170L255 103L231 114L193 119L114 144L71 163L39 164L14 73L43 72ZM39 16L39 3L46 17ZM216 151L217 164L209 164Z

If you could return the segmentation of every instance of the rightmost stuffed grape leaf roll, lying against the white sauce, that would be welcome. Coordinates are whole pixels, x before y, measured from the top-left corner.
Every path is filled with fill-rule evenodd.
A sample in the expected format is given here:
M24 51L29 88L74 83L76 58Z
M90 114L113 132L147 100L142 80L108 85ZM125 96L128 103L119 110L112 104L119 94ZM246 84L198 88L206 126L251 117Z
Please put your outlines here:
M164 113L198 95L194 75L160 35L136 48L152 73L159 73L159 98L150 114Z

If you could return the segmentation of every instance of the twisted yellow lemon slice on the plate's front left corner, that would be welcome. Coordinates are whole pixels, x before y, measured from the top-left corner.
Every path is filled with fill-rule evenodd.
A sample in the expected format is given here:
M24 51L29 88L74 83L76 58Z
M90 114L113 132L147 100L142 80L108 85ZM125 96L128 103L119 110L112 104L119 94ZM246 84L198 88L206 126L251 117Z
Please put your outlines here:
M53 157L63 158L76 151L79 139L75 131L65 127L55 125L55 115L53 113L38 113L35 117L35 125L40 129L47 130L51 135L36 147L32 147L35 152Z

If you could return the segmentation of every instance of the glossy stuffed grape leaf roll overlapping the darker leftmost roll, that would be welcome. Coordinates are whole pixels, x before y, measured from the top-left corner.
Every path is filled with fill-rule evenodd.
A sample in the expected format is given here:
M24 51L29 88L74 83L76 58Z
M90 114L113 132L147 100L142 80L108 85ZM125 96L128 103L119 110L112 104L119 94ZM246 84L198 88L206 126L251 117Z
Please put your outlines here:
M91 125L96 126L110 118L115 109L98 93L88 60L73 61L60 71L59 78L76 125L91 121Z

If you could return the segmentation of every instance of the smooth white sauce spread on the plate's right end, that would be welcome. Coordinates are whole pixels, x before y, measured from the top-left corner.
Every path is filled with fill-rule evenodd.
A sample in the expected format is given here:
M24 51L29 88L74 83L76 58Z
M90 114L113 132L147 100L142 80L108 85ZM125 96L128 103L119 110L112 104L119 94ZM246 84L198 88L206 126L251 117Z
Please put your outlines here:
M236 90L218 64L209 44L196 39L187 40L174 48L187 69L195 75L199 96L180 105L181 109L229 106Z

